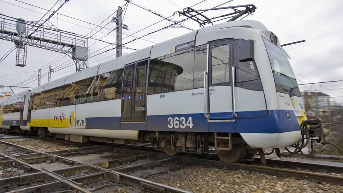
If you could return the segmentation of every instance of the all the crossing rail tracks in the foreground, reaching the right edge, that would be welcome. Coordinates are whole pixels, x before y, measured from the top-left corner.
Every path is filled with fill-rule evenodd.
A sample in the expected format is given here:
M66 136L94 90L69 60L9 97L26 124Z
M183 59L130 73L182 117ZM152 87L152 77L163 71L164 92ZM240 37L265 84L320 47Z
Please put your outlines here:
M1 179L0 175L0 192L103 192L111 189L128 192L188 192L144 178L194 164L343 185L343 177L340 176L343 174L342 164L267 159L266 166L258 159L253 163L225 163L196 158L194 155L170 157L156 151L108 145L39 152L6 141L0 140L0 144L20 150L18 154L11 154L10 151L0 153L1 169L18 170L18 175L10 178ZM92 159L88 159L90 155ZM11 187L7 186L10 184Z

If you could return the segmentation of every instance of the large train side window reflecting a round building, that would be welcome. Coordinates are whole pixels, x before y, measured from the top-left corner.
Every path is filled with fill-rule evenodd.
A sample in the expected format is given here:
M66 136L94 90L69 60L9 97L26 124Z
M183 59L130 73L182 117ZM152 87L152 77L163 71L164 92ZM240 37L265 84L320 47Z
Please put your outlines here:
M194 47L150 60L148 94L193 89Z

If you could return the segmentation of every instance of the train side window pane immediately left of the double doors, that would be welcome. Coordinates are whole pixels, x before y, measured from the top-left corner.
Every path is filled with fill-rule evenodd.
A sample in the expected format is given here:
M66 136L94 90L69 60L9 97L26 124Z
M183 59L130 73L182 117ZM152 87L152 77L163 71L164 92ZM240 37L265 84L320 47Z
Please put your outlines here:
M121 98L123 68L104 73L100 76L98 90L100 91L99 101L108 101Z

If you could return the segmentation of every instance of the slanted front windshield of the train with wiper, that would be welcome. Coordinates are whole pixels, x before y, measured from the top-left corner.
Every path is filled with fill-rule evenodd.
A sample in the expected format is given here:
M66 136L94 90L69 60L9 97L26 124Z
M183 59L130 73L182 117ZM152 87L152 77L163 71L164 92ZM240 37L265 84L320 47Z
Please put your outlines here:
M272 66L276 91L288 94L289 89L296 87L298 84L286 53L264 37L263 41L267 48L269 61ZM294 95L300 96L299 88L294 92Z

